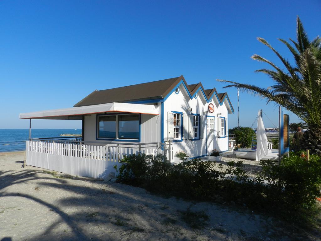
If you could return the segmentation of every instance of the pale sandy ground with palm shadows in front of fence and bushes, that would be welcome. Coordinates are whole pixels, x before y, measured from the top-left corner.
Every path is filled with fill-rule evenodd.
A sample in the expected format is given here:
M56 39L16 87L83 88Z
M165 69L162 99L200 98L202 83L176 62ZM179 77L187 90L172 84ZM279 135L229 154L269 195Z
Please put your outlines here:
M0 153L0 240L321 240L250 210L22 167ZM47 172L45 172L47 171ZM175 184L175 183L173 183ZM280 228L281 227L281 228Z

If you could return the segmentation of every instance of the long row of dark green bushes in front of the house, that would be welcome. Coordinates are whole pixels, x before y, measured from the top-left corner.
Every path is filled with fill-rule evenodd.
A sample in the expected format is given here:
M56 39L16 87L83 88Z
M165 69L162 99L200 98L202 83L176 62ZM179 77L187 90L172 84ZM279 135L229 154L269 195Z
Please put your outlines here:
M262 170L254 178L248 176L242 161L215 165L200 158L171 165L161 155L130 155L121 161L117 180L163 195L245 204L284 219L313 217L320 195L319 156L311 155L306 161L290 153L282 157L280 166L272 160L261 161Z

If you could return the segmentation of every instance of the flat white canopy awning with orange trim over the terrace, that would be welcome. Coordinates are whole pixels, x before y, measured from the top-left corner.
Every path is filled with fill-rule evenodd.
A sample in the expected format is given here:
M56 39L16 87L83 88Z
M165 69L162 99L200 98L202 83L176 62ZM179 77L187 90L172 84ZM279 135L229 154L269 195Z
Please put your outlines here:
M21 113L20 119L81 120L82 115L104 112L129 112L151 115L159 114L154 105L113 102L66 109Z

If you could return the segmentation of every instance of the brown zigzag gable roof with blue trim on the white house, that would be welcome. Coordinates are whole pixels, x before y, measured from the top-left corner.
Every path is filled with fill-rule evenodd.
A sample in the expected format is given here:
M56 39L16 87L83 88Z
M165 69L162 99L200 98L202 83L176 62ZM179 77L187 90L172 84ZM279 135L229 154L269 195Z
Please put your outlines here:
M155 100L155 102L158 102L160 99L167 99L169 94L171 94L181 83L185 86L187 93L191 98L193 98L199 90L203 92L207 102L209 102L215 95L220 105L222 105L226 98L230 105L230 111L234 112L234 108L230 102L227 92L217 93L215 88L205 90L201 82L198 84L187 85L185 78L182 75L175 78L152 81L143 84L128 85L107 90L95 90L75 104L74 107L143 100Z

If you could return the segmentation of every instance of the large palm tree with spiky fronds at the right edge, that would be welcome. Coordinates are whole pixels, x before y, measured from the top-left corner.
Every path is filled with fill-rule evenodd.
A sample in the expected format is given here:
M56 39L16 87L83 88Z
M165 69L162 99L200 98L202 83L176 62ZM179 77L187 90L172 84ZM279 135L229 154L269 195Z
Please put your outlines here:
M270 48L281 60L285 70L271 61L255 54L253 59L269 64L273 69L259 69L256 72L265 73L273 79L275 84L269 88L256 85L241 84L228 80L219 80L231 83L227 87L235 87L242 91L258 95L267 102L274 101L299 116L308 124L305 132L303 148L321 155L321 38L317 36L309 41L303 25L297 18L297 40L290 38L290 42L279 39L291 51L294 65L283 58L265 39L257 38Z

